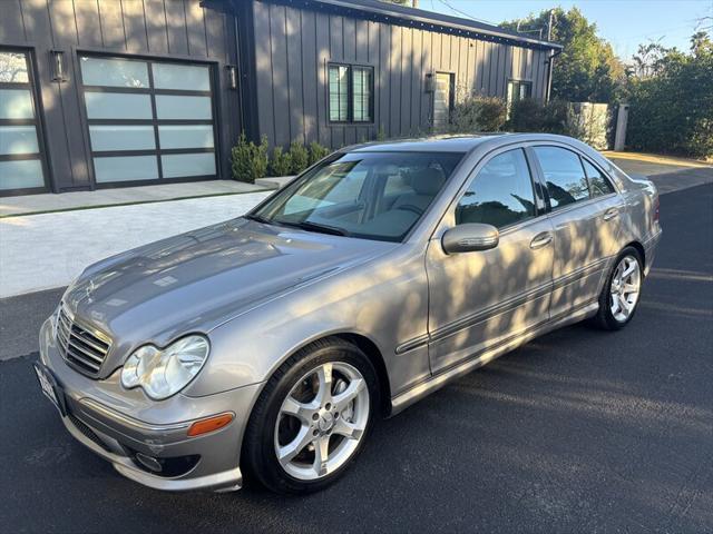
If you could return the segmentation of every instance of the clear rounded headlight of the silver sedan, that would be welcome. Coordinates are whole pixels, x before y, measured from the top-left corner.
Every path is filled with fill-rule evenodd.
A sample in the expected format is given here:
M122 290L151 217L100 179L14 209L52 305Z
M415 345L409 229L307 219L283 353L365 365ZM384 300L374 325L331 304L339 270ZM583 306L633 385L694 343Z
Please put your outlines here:
M154 400L163 400L186 387L208 357L211 345L198 335L187 336L166 348L145 345L128 357L121 385L141 387Z

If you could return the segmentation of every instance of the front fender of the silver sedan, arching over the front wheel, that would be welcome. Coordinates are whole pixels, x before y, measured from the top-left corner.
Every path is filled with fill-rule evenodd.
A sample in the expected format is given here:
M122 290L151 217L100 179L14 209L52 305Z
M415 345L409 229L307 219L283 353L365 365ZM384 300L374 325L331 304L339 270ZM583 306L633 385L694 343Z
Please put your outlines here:
M204 396L265 382L301 347L356 334L380 350L393 394L430 374L423 346L395 347L427 333L423 251L403 246L367 265L285 294L211 330L211 356L184 392Z

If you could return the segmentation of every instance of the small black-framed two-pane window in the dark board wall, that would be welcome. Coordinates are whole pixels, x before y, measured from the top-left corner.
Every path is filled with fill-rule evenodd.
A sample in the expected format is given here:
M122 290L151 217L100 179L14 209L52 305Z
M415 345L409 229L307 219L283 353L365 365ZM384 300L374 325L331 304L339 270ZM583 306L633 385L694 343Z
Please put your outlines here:
M371 67L330 65L330 121L371 122L373 83Z

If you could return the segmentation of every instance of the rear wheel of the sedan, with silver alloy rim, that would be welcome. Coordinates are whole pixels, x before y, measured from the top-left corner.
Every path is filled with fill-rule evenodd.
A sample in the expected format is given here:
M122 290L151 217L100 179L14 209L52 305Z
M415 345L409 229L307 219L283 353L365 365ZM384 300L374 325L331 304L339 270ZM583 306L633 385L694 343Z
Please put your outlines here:
M642 257L634 247L626 247L616 258L602 288L596 324L607 330L618 330L626 326L636 313L643 281Z

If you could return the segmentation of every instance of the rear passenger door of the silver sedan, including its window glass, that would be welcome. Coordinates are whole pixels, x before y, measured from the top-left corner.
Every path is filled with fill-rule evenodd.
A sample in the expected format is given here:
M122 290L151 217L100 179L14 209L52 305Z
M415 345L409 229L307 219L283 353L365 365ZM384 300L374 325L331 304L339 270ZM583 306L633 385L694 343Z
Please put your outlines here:
M550 316L557 319L597 299L618 251L622 205L604 172L579 152L543 145L531 154L555 233Z

